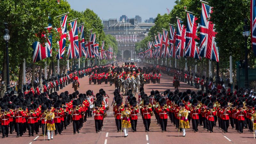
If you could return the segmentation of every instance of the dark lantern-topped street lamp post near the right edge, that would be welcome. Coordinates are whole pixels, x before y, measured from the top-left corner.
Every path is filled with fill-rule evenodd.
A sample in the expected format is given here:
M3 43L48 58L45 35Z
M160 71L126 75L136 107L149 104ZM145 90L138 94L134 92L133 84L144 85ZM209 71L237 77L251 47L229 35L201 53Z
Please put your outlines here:
M250 27L247 25L248 20L244 19L244 31L243 36L245 40L245 81L244 81L244 87L247 89L249 87L248 82L248 49L247 49L247 39L250 36Z

